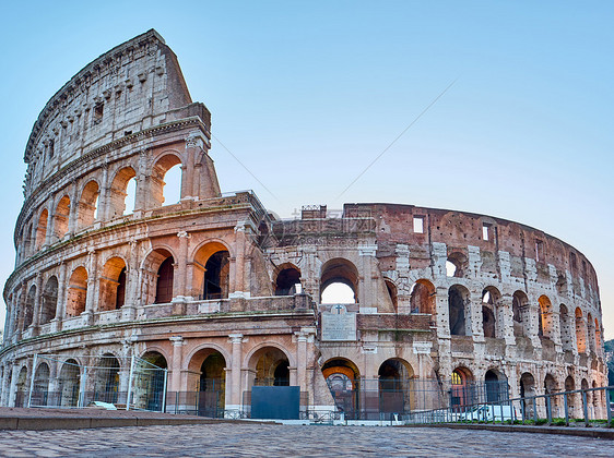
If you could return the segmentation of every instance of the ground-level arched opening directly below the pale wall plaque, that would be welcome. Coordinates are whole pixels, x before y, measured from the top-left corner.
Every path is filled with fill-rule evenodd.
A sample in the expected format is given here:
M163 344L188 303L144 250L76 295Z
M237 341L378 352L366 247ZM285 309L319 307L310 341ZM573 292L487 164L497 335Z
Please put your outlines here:
M344 412L345 418L361 418L358 367L352 361L336 358L322 366L322 375L334 399L336 408Z

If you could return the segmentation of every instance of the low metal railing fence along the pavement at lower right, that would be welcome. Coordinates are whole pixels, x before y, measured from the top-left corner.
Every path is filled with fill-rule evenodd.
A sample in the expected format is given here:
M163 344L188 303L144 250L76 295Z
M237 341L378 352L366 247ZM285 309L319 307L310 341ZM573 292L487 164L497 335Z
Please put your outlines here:
M614 386L465 403L411 412L403 420L406 424L499 422L612 426L613 412L607 401L611 393Z

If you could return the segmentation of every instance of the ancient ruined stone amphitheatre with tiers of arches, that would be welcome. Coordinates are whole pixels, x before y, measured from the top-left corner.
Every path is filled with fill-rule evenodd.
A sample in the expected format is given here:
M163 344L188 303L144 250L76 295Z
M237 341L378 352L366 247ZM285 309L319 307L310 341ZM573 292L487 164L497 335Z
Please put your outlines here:
M153 29L47 103L3 291L2 406L245 417L264 398L376 419L606 386L597 274L574 246L414 205L281 219L221 192L210 146Z

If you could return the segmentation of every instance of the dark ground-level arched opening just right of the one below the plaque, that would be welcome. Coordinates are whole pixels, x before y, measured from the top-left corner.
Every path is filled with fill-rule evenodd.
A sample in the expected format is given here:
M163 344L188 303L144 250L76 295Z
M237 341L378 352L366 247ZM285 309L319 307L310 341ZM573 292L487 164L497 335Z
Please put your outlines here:
M379 366L379 411L385 413L408 413L414 405L412 399L412 366L404 360L386 360Z

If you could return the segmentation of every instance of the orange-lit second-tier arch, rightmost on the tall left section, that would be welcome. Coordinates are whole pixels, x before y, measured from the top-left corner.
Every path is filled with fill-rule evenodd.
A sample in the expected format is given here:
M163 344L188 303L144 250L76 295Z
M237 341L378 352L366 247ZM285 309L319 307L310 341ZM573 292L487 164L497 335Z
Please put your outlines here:
M208 241L194 253L193 296L205 300L227 299L231 290L231 252L225 243Z

